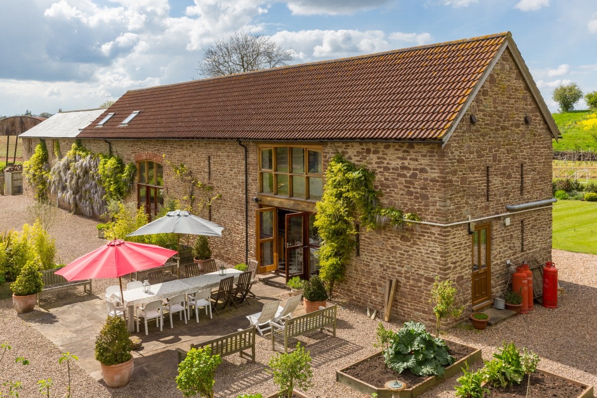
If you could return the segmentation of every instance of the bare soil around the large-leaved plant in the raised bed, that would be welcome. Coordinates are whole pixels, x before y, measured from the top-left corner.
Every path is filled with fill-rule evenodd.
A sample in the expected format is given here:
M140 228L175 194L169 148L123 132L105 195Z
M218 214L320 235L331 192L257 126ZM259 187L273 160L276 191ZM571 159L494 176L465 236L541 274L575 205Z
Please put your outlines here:
M446 341L446 344L448 345L448 352L456 361L463 359L474 351L474 348L454 343L453 341ZM377 388L382 388L390 380L405 382L407 387L411 388L413 385L420 384L429 378L429 376L414 375L408 369L402 373L398 373L387 368L381 353L357 365L350 366L344 373Z

